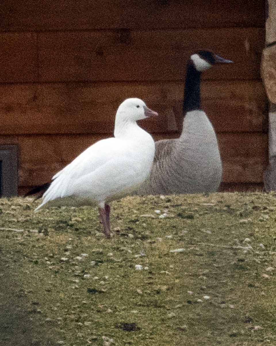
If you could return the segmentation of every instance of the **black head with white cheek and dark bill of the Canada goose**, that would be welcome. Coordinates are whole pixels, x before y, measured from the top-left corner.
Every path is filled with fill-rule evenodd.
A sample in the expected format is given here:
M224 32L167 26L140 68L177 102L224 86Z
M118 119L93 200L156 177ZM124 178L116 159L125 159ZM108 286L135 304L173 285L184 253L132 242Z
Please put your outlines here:
M233 61L224 59L210 51L198 51L197 53L192 54L191 61L193 62L195 69L199 72L203 72L215 64L233 63Z

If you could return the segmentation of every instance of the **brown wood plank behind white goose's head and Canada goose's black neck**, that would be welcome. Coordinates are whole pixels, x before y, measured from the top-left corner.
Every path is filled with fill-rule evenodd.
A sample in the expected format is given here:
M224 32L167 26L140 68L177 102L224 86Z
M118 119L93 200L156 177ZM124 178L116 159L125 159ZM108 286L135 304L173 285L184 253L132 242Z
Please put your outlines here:
M203 108L217 132L264 131L267 100L262 82L203 81ZM113 133L117 107L128 97L144 99L159 113L140 122L150 133L182 129L183 82L56 83L0 85L0 133Z

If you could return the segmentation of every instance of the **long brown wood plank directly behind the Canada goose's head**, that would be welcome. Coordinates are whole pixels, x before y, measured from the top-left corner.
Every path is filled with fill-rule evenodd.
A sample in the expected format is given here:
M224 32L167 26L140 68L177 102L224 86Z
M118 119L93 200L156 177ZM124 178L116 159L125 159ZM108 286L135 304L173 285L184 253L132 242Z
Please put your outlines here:
M39 33L39 80L179 81L198 49L234 61L203 79L259 79L264 42L265 30L258 28Z

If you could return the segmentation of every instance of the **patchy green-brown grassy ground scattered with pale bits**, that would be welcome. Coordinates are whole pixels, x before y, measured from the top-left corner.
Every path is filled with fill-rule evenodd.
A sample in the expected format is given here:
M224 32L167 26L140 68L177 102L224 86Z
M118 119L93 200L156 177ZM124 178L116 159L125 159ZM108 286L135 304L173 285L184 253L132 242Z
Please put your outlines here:
M276 345L276 199L0 199L0 345Z

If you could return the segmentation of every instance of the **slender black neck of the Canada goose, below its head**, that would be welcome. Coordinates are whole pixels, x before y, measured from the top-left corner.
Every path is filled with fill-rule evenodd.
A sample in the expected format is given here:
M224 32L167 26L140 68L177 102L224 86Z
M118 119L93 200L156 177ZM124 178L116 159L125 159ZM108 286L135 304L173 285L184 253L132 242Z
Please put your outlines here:
M184 116L191 110L200 109L200 76L201 72L197 71L195 66L191 62L189 62L187 64L184 86Z

